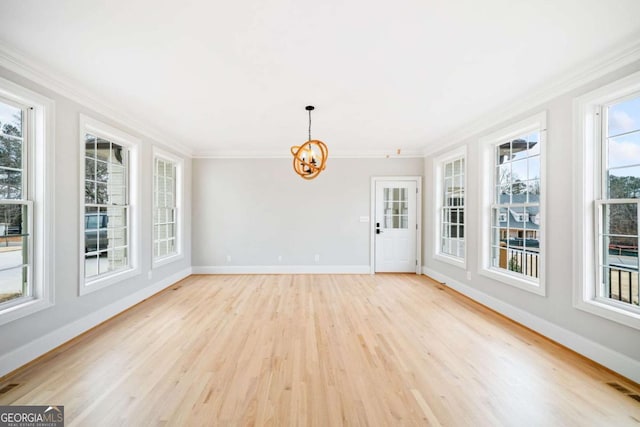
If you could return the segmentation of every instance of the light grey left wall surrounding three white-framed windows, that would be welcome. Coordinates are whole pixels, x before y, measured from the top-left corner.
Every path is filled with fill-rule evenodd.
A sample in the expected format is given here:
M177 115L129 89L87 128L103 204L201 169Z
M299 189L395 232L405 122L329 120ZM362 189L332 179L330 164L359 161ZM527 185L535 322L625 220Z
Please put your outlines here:
M189 274L191 267L191 160L185 159L185 241L184 258L152 272L151 270L151 186L152 144L154 141L131 129L109 120L63 95L35 84L0 67L0 77L38 92L55 102L55 305L33 315L0 326L0 376L10 372L30 359L39 356L62 342L83 332L97 322L113 316L139 299L168 286L168 279ZM139 147L142 170L140 173L141 251L140 274L105 289L80 297L78 295L78 270L81 259L79 236L84 224L80 223L79 164L79 113L101 120L140 138ZM163 147L171 150L171 147Z

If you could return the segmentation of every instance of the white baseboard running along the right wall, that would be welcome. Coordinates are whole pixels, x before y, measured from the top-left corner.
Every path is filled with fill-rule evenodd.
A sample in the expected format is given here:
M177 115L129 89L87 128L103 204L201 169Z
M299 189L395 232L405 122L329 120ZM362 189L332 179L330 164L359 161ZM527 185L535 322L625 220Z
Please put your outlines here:
M624 354L613 351L601 344L591 341L582 335L564 329L555 323L535 316L525 310L508 304L491 295L480 292L471 286L457 282L454 279L441 274L428 267L422 267L423 274L445 283L448 287L455 289L463 295L489 307L498 313L530 328L545 337L570 348L599 364L611 369L620 375L629 378L636 383L640 383L640 361L632 359Z

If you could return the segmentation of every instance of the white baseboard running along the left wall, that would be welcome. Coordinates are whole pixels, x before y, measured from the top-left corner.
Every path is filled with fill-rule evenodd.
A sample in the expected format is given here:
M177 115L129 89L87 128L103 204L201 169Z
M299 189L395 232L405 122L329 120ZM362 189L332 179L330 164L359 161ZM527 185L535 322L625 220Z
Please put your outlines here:
M103 307L88 316L56 329L55 331L25 344L10 353L0 356L0 377L24 366L32 360L99 325L105 320L122 313L124 310L144 301L150 296L171 286L175 282L188 277L189 275L191 275L191 268L186 268L154 283L153 285L147 286L134 294L128 295L121 300Z

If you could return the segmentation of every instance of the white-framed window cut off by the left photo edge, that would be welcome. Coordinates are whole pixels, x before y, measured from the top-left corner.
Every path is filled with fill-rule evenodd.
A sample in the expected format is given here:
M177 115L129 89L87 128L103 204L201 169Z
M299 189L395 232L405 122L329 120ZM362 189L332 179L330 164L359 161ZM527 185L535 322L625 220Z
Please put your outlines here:
M53 304L53 102L0 79L0 324Z

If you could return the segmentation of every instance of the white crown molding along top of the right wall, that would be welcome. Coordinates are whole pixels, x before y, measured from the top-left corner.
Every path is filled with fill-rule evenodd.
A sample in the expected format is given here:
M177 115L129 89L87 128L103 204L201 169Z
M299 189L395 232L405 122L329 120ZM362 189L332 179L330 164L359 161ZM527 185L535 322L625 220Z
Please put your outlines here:
M554 98L591 83L635 61L640 61L640 37L638 37L638 34L628 39L621 47L609 49L590 61L583 62L573 72L564 73L560 78L552 79L550 83L541 85L538 90L533 91L529 96L498 107L483 115L480 119L462 126L457 131L434 140L425 146L422 154L427 157L445 148L459 144L474 135L487 131L495 125L512 120Z

